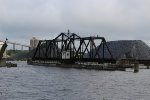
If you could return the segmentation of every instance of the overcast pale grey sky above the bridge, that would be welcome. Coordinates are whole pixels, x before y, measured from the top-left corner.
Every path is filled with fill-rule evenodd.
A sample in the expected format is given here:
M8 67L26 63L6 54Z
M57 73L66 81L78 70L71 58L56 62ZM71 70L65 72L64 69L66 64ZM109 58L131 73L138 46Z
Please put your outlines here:
M0 39L29 44L70 29L150 45L150 0L0 0Z

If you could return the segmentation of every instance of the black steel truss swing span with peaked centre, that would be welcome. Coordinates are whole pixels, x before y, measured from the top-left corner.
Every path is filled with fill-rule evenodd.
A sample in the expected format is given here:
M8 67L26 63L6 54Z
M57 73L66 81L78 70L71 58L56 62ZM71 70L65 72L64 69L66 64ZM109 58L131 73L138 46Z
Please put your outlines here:
M70 59L62 59L63 51L70 52ZM115 62L104 37L80 37L69 32L61 33L53 40L40 40L32 60L61 63Z

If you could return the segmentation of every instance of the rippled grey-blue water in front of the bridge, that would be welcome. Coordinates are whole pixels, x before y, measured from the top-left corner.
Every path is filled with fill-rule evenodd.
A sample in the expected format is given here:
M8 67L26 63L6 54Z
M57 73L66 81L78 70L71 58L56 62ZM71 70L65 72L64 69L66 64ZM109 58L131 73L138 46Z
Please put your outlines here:
M149 100L150 70L96 71L31 66L0 68L0 100Z

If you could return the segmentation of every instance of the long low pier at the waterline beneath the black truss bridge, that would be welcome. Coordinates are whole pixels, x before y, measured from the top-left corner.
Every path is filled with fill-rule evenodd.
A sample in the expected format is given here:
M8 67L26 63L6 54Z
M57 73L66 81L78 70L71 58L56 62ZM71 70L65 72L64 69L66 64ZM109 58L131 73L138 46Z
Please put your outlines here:
M37 66L48 66L48 67L61 67L61 68L77 68L77 69L94 69L94 70L105 70L105 71L125 71L126 67L129 66L120 66L117 64L61 64L57 62L39 62L39 61L30 61L27 63L29 65Z

